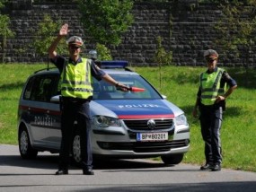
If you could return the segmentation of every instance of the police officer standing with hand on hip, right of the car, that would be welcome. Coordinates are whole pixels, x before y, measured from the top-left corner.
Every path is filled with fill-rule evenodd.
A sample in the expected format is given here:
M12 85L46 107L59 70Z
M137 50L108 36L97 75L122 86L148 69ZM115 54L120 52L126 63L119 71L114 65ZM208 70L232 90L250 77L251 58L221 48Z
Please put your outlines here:
M220 128L225 110L225 100L237 87L236 82L224 69L216 66L218 54L216 50L208 49L204 52L207 71L200 74L199 92L193 109L193 117L199 120L201 135L205 142L206 164L200 170L221 170ZM225 92L225 86L228 90Z

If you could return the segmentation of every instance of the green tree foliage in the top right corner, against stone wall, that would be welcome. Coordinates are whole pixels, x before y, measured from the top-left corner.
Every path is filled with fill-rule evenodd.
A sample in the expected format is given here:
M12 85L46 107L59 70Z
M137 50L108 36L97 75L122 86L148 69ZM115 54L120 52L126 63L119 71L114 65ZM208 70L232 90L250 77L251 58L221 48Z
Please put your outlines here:
M215 26L216 33L219 34L215 43L223 49L224 57L239 57L242 52L249 52L255 44L255 5L255 1L225 1L220 4L224 15Z

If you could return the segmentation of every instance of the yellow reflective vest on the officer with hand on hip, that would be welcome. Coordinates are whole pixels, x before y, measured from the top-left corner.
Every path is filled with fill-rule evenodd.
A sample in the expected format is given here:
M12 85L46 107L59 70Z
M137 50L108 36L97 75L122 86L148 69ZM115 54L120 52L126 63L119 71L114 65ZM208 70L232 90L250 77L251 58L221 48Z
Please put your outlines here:
M204 105L213 105L216 96L225 93L225 86L220 87L220 80L224 70L217 68L216 72L211 74L200 74L201 102Z

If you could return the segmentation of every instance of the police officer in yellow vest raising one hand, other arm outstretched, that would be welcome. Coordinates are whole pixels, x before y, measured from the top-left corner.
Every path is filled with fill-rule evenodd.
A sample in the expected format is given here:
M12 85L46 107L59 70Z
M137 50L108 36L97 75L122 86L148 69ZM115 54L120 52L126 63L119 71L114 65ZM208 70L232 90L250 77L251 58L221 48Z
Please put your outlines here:
M83 40L72 36L67 40L69 59L57 55L59 41L68 34L68 24L64 24L51 46L49 58L61 73L61 146L59 164L56 175L68 174L70 150L74 132L74 122L80 130L81 165L84 175L93 175L93 154L90 139L90 109L89 102L93 97L91 75L97 80L104 80L115 85L119 90L128 91L128 87L118 83L109 74L105 74L91 59L80 57Z

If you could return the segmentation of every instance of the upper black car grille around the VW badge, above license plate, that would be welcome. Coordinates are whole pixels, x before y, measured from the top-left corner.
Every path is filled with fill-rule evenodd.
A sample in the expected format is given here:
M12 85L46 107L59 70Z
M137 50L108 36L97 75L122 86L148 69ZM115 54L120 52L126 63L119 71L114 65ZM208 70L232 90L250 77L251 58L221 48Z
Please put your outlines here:
M130 130L148 130L147 122L149 119L132 119L132 120L123 120L126 126ZM173 125L172 118L163 118L163 119L153 119L155 122L154 129L168 129Z

